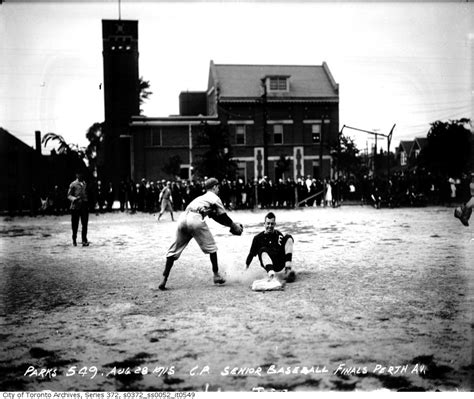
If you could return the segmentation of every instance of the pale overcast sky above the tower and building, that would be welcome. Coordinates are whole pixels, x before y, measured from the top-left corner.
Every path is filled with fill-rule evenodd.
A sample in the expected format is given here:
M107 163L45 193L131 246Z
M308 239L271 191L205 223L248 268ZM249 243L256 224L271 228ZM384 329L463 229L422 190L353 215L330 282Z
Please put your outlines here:
M28 145L34 131L86 145L104 120L102 19L118 1L0 5L0 126ZM147 116L179 112L185 90L205 90L209 62L321 65L340 85L339 125L425 136L435 120L472 118L472 2L121 1L139 21ZM360 149L367 135L344 130ZM43 150L49 153L49 149Z

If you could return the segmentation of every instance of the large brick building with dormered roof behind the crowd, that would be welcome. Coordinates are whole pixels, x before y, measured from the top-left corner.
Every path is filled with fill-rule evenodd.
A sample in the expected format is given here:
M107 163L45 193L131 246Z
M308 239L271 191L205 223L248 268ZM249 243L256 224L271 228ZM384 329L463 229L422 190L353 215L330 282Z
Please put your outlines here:
M207 90L181 93L179 116L131 118L131 178L172 178L163 170L171 158L179 160L181 178L192 178L193 162L204 151L196 141L203 123L227 132L237 174L246 181L329 177L339 132L339 87L326 63L211 61ZM282 157L289 161L284 171L277 167Z

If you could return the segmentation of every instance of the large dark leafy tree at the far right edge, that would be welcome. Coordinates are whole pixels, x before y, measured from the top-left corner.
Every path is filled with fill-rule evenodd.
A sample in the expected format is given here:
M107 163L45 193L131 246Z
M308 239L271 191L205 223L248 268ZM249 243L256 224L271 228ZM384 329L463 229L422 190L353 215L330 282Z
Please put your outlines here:
M427 135L427 144L418 156L418 166L436 175L461 176L470 172L471 120L435 121Z

